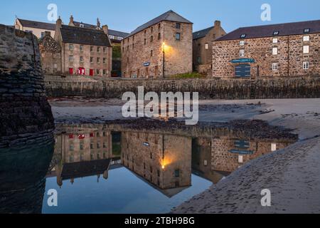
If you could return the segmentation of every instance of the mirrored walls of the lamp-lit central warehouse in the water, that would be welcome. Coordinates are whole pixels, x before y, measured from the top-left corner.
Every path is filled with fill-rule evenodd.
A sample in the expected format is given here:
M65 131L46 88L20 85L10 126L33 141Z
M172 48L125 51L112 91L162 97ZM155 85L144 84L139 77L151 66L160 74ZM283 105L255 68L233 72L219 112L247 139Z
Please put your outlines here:
M191 186L191 138L122 132L122 162L162 190Z

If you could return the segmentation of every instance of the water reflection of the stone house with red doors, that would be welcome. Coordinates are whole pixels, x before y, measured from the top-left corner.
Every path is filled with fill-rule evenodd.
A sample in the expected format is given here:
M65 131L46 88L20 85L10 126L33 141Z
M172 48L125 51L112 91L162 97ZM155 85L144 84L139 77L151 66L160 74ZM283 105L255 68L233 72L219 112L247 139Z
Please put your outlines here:
M102 128L64 128L65 132L55 136L55 175L58 185L63 180L74 182L75 178L100 175L107 179L112 159L112 134ZM58 156L59 155L59 156ZM117 159L116 159L117 160ZM51 170L52 171L52 170Z

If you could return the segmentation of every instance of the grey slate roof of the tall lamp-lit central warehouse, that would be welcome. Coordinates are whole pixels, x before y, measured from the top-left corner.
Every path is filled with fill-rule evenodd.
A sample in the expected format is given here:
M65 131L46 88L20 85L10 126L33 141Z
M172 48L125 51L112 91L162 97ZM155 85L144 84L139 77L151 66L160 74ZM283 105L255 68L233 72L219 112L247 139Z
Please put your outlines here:
M161 21L174 21L174 22L180 22L180 23L193 24L191 21L188 21L187 19L183 18L176 12L169 10L166 13L156 17L155 19L152 19L151 21L146 22L146 24L139 26L134 31L132 31L132 33L130 33L129 36L133 36L134 34L139 33L139 31L143 31L145 28L153 26L154 24L158 24Z

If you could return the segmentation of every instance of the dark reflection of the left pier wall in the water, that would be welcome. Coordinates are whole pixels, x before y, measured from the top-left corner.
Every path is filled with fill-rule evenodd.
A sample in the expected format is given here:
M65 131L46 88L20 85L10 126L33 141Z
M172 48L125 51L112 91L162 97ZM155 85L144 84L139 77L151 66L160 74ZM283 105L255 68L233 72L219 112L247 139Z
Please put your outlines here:
M41 213L53 145L0 149L0 214Z

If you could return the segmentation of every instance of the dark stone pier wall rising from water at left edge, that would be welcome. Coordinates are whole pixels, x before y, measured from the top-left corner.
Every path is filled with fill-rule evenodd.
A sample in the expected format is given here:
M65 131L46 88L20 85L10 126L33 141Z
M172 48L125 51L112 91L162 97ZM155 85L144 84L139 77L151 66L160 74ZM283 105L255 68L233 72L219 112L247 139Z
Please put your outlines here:
M0 147L53 137L38 39L0 25Z

